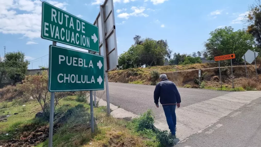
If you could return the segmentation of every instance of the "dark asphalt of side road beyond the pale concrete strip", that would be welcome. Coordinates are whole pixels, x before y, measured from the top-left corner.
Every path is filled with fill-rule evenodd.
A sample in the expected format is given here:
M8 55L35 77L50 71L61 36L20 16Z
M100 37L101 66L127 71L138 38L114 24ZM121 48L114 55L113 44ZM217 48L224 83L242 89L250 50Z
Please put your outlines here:
M155 86L112 83L109 82L110 103L140 115L152 109L155 116L163 112L163 108L156 108L153 92ZM181 107L192 105L201 101L212 99L230 92L214 91L208 89L178 88L181 95ZM106 100L106 94L102 97Z

